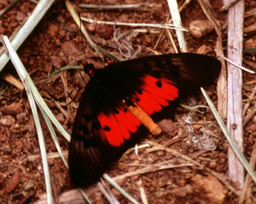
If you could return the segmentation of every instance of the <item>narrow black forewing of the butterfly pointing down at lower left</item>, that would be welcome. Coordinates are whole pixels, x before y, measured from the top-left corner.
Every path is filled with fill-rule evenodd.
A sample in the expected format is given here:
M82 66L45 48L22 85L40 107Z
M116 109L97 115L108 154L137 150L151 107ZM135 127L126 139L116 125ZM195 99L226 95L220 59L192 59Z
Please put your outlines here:
M100 124L92 113L88 91L83 92L88 100L81 100L83 105L77 111L70 141L70 178L77 186L94 183L106 166L106 160L101 157L101 146L104 145L98 142L97 136L100 135Z

